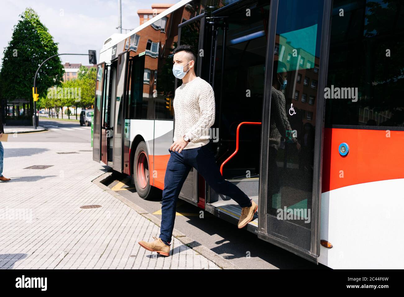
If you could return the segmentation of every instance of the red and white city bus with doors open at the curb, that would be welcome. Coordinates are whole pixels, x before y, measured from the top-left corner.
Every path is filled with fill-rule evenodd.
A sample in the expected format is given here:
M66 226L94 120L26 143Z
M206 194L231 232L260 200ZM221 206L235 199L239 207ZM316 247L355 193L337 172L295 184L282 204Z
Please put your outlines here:
M217 165L259 206L246 229L334 269L403 268L403 17L399 0L182 0L105 40L93 159L161 195L173 49L189 44L215 92ZM240 217L195 169L179 198Z

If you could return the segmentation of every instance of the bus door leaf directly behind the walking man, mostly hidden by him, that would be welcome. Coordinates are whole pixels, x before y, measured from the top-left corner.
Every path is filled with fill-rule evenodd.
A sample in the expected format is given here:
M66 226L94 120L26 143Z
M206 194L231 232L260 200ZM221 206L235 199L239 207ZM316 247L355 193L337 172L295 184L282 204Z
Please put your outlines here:
M189 44L195 49L198 49L198 53L202 48L202 36L203 36L203 14L198 15L192 19L189 19L178 25L178 45ZM197 54L197 53L196 53ZM198 55L196 65L196 76L200 75L200 69L202 65L203 57ZM175 89L181 85L182 80L175 78ZM175 115L174 115L174 127L175 127ZM174 137L174 129L173 129ZM198 205L198 171L195 168L191 168L183 187L181 188L179 197L187 202Z

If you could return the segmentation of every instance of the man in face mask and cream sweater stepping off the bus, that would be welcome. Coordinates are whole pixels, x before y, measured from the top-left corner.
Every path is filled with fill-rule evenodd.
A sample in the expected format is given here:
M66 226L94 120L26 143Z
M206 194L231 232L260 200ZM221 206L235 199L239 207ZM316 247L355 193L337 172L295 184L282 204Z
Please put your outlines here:
M153 236L153 242L139 242L148 251L165 256L170 252L178 195L192 167L213 190L233 198L242 207L238 228L252 221L258 209L242 190L223 178L213 151L208 147L209 128L215 123L215 96L212 86L195 75L196 57L191 46L178 46L173 53L173 74L182 79L182 85L175 91L173 104L174 143L168 149L170 158L164 176L160 236Z

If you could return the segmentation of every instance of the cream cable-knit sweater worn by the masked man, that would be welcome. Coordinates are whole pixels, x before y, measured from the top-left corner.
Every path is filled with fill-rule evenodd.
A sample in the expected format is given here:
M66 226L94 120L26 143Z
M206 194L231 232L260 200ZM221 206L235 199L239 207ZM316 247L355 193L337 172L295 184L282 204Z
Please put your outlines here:
M187 135L192 149L209 143L209 128L215 123L215 93L199 76L175 90L175 128L173 141Z

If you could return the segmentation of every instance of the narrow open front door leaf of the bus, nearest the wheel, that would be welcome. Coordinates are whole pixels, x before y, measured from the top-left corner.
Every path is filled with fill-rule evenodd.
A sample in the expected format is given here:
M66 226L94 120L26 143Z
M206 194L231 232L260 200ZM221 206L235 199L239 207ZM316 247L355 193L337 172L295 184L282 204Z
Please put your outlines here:
M116 88L115 96L112 96L115 102L112 102L114 110L111 108L113 116L113 145L112 145L112 169L122 172L122 156L123 156L123 140L124 135L124 108L125 108L125 85L126 85L126 68L127 68L127 55L125 51L118 56L117 71L116 71ZM110 145L111 146L111 145Z

